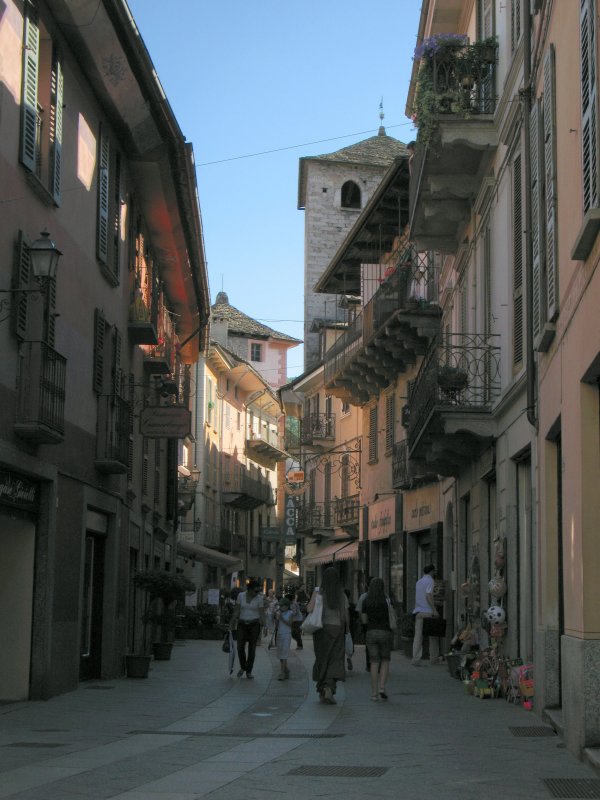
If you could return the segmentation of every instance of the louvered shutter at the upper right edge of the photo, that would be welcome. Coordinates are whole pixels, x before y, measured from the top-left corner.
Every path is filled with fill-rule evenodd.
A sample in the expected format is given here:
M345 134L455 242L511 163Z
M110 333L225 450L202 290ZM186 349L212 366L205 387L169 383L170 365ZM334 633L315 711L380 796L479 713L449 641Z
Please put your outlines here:
M581 146L583 213L600 205L598 185L598 90L596 76L596 17L594 0L581 0Z

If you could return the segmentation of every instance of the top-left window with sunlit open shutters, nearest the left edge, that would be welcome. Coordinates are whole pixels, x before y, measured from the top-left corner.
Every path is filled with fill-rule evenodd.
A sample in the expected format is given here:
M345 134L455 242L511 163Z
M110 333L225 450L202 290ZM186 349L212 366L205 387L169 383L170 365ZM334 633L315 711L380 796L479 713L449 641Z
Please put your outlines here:
M58 48L26 3L21 96L21 163L60 205L64 80Z

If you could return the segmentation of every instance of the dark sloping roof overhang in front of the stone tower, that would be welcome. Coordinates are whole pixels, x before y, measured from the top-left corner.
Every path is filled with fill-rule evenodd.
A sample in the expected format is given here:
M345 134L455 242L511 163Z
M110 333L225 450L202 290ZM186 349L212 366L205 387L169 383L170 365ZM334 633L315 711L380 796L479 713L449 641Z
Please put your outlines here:
M395 158L363 212L317 281L314 291L361 294L361 266L377 246L391 251L408 222L408 158Z

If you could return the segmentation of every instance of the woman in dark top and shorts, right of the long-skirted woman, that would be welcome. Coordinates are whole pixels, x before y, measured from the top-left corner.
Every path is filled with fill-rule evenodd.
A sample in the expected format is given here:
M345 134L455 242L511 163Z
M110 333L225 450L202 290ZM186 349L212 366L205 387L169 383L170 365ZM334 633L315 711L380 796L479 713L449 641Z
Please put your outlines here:
M393 634L390 628L390 601L381 578L373 578L363 603L362 622L371 659L371 700L387 700L385 685L390 672Z

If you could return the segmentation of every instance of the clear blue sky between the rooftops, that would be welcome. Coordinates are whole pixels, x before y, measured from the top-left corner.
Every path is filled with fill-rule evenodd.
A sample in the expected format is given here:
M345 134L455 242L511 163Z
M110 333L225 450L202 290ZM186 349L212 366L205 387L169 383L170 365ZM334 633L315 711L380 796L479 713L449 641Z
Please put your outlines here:
M415 137L404 108L421 3L128 2L194 145L211 302L223 288L236 308L301 339L298 159L375 135L382 96L387 133ZM294 145L305 146L236 158ZM299 347L288 373L301 371Z

